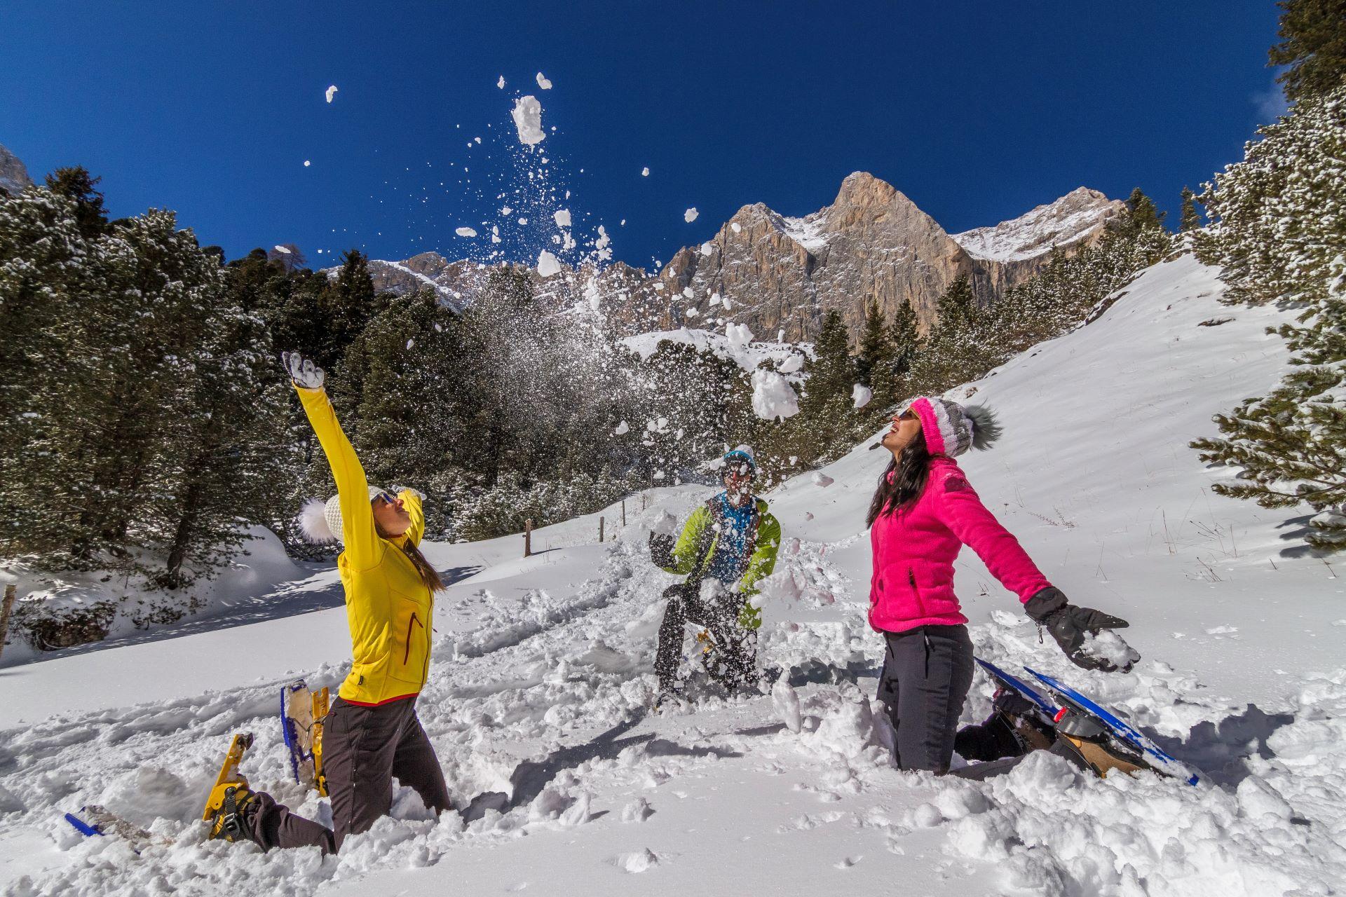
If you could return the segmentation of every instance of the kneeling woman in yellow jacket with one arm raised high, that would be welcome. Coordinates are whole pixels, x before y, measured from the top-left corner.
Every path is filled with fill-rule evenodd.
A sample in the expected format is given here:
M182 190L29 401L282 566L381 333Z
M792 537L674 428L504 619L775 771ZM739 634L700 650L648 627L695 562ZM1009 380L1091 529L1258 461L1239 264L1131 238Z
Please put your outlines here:
M304 529L311 538L341 538L345 549L336 566L354 660L323 724L334 831L249 791L240 776L234 807L215 816L211 835L234 841L241 834L262 850L316 846L336 853L346 835L388 815L394 776L427 807L451 808L444 773L416 717L416 695L429 671L435 592L444 585L416 547L425 529L420 494L393 496L370 487L323 390L323 370L297 352L283 360L336 480L320 520L310 518Z

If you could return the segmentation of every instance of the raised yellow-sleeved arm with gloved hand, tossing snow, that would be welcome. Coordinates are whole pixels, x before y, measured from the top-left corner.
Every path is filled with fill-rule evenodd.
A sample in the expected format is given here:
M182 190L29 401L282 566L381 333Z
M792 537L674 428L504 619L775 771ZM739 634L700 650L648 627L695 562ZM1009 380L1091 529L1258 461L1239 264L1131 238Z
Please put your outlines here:
M384 543L374 529L374 508L369 503L365 468L361 467L355 448L336 422L336 412L323 389L326 382L323 368L299 352L285 352L281 359L336 481L336 495L341 499L341 537L346 557L354 569L367 570L382 559Z

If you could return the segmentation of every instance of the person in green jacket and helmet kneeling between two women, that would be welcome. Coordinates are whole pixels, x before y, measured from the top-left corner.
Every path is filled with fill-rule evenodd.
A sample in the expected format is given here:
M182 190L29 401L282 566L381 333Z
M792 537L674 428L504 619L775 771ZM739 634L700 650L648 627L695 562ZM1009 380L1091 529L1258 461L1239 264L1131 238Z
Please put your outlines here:
M763 499L752 495L756 460L740 445L724 455L724 491L692 511L673 545L670 535L650 535L651 559L669 573L686 576L669 586L660 624L654 671L657 703L680 698L677 666L686 621L709 631L721 683L734 690L755 678L756 631L762 615L750 598L756 584L775 568L781 524Z

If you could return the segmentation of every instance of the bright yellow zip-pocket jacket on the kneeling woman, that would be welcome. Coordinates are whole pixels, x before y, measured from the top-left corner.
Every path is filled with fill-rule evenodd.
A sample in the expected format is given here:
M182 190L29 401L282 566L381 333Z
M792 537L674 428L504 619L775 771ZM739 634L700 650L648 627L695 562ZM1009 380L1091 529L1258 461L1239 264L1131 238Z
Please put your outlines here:
M341 685L350 703L378 705L415 697L429 672L429 637L435 597L401 547L419 545L425 531L420 496L398 494L412 524L396 539L380 538L369 500L365 468L355 457L327 393L295 387L308 422L327 453L341 498L342 542L336 558L346 588L346 621L354 663Z

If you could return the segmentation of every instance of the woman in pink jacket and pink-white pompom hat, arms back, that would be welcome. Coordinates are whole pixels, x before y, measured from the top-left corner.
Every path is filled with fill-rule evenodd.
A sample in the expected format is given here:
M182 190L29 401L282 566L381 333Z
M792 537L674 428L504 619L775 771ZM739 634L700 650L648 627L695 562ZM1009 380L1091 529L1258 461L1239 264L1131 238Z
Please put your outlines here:
M927 397L914 399L883 434L892 463L870 503L870 625L887 640L879 699L892 719L902 769L945 773L953 757L973 668L968 619L953 592L953 561L964 545L1071 660L1116 668L1081 647L1085 633L1124 627L1125 620L1069 604L953 460L969 448L988 448L999 436L988 409Z

